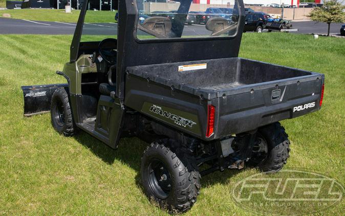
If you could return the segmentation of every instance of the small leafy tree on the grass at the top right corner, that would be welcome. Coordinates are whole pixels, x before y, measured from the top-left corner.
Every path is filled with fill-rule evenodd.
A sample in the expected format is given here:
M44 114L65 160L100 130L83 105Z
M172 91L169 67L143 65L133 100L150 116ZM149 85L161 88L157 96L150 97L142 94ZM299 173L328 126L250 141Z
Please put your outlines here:
M332 22L345 22L345 6L341 5L337 0L325 1L320 8L315 8L310 12L308 17L313 21L326 22L328 24L328 33L330 35L330 26Z

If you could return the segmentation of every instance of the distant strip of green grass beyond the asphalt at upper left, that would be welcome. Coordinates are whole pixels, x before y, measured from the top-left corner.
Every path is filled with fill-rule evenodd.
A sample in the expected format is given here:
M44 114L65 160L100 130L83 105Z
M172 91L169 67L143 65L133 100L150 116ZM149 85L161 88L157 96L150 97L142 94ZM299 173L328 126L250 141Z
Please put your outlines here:
M1 0L0 0L1 1ZM72 13L65 13L64 10L51 9L22 9L0 11L0 16L4 13L11 14L14 19L29 19L35 21L59 21L77 22L80 10L72 10ZM85 16L85 22L114 22L114 11L93 11L90 10Z

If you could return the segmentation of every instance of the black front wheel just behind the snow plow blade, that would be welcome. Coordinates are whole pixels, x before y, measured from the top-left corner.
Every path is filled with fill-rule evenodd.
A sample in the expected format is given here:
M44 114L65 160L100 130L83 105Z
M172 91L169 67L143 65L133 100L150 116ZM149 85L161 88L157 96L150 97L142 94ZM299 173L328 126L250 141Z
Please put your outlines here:
M64 136L72 136L75 132L72 110L68 94L64 88L55 90L50 105L53 128Z

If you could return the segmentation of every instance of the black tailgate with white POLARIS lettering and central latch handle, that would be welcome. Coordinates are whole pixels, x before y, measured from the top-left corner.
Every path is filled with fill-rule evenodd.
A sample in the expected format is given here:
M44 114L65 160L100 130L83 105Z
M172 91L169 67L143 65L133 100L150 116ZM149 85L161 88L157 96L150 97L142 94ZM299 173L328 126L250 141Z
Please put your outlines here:
M324 79L324 75L313 73L219 92L221 97L214 104L218 107L218 115L213 138L254 130L319 110Z

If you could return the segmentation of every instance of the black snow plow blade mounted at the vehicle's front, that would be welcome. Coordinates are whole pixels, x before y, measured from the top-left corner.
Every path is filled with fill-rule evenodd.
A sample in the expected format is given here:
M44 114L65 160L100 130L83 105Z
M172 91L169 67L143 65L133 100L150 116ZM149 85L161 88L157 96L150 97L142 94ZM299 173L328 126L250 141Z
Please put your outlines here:
M50 101L57 88L65 88L68 84L22 86L24 94L24 116L42 114L50 111Z

